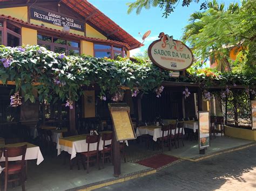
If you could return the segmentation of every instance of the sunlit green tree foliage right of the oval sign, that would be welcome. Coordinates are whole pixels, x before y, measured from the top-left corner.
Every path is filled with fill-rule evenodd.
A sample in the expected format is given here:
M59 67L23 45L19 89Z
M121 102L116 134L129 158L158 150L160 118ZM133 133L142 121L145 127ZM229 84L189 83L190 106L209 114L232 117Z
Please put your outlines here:
M253 0L242 1L240 7L232 3L227 9L224 4L213 2L212 8L190 16L182 39L191 45L198 60L215 58L219 61L219 70L228 68L255 75L255 19L256 2ZM240 53L237 60L232 61L229 55L234 47Z

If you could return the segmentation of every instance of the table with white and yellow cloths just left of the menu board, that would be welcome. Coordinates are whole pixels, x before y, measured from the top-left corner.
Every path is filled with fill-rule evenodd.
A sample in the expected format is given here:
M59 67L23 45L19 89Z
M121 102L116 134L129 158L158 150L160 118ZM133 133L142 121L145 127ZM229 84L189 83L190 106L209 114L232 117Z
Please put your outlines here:
M111 133L112 131L102 131L102 133ZM90 136L90 134L83 134L77 136L70 136L65 138L59 138L57 143L57 155L59 155L62 151L66 151L71 154L70 160L76 157L77 153L87 152L87 143L86 137ZM112 140L106 140L105 145L110 145ZM90 144L90 151L97 150L97 143ZM99 151L103 150L103 140L100 137L99 140Z

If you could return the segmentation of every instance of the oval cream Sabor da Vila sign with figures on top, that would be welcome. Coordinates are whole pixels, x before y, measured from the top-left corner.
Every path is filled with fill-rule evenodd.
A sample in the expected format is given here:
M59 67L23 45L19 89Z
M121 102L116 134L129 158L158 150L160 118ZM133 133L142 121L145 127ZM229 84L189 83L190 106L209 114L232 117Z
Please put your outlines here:
M181 71L190 67L194 56L185 44L161 32L159 40L153 41L147 53L151 61L167 70Z

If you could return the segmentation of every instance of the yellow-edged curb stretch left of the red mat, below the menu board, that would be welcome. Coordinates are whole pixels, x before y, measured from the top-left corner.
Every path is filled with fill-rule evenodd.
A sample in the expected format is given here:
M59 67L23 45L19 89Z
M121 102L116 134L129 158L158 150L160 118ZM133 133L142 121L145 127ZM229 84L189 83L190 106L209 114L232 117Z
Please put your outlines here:
M112 179L108 179L108 180L104 180L104 181L91 183L89 185L68 189L67 191L94 190L94 189L102 188L102 187L105 187L105 186L110 186L110 185L113 185L113 184L116 184L116 183L120 183L120 182L124 182L124 181L128 181L128 180L140 178L140 177L143 177L143 176L146 176L146 175L154 174L156 172L157 172L157 170L153 169L153 168L145 169L143 171L138 171L138 172L135 172L135 173L130 173L130 174L126 174L124 176L120 176L119 178L112 178Z

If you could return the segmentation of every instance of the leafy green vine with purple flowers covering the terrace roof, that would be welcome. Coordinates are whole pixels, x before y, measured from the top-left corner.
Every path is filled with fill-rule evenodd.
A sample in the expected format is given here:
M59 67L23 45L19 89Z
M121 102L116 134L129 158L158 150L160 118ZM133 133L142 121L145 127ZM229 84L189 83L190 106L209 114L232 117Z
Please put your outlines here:
M120 60L98 59L90 56L65 56L47 51L40 46L4 47L0 46L0 80L3 84L14 81L11 104L18 106L19 91L24 93L24 101L35 101L33 90L38 91L39 101L63 100L72 107L83 94L82 86L98 86L102 100L111 95L117 101L122 87L129 87L133 95L139 91L154 91L159 97L163 81L200 83L207 88L213 84L231 86L241 84L252 88L255 76L240 73L220 73L202 69L188 70L186 76L173 78L167 70L159 70L151 62L141 59L121 58ZM15 100L15 103L14 103ZM19 101L18 101L19 103Z

